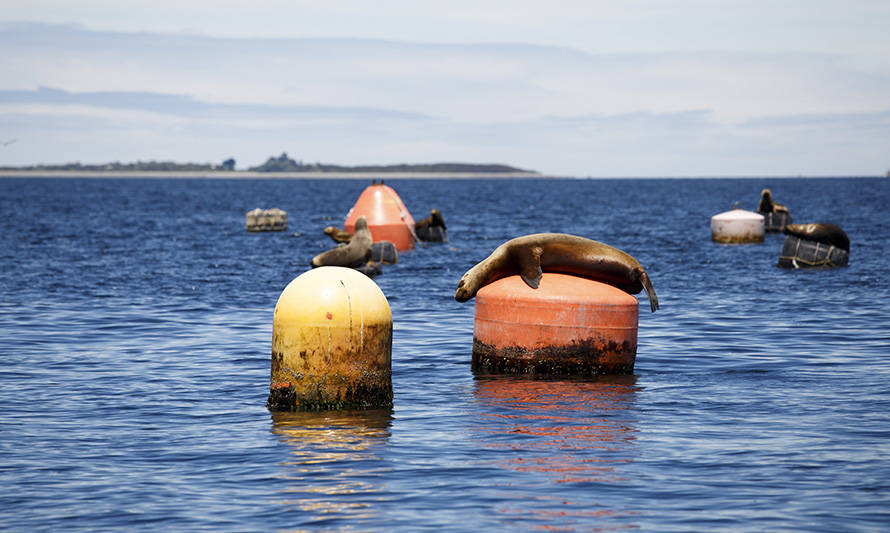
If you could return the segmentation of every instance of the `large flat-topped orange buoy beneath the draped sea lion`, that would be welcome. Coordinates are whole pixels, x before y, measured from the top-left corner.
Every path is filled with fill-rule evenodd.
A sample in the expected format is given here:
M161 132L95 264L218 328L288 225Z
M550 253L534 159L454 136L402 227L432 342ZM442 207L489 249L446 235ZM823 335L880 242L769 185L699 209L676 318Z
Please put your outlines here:
M612 285L544 272L532 289L519 276L476 293L473 370L494 374L633 373L639 302Z

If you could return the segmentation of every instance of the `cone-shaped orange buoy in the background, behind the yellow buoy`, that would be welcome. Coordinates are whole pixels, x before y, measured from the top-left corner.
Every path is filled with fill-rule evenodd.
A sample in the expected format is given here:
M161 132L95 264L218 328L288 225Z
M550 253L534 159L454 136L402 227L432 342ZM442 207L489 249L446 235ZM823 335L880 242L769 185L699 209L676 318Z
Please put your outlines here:
M355 221L364 216L374 242L390 241L400 252L414 248L414 219L396 191L388 185L368 186L346 214L343 229L355 233Z

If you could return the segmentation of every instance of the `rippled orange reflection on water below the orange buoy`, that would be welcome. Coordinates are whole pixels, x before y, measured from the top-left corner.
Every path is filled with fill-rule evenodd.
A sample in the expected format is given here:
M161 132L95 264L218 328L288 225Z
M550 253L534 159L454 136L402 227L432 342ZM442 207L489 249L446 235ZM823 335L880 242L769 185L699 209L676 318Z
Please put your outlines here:
M636 391L635 376L583 381L480 376L474 391L481 407L480 445L498 452L499 467L535 476L542 493L551 492L547 486L561 492L554 483L595 483L606 490L626 484L631 480L622 466L637 455ZM602 500L590 501L589 496L583 491L578 497L555 496L559 502L545 497L499 511L517 519L553 522L544 529L591 517L608 521L636 514L610 508Z

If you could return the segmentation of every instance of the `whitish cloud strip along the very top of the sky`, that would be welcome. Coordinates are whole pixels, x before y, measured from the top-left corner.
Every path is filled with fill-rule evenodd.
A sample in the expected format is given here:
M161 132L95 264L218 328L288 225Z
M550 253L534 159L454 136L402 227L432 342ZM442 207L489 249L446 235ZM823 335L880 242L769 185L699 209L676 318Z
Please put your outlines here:
M3 7L8 20L228 38L535 42L600 53L795 50L885 60L890 48L885 0L29 0Z

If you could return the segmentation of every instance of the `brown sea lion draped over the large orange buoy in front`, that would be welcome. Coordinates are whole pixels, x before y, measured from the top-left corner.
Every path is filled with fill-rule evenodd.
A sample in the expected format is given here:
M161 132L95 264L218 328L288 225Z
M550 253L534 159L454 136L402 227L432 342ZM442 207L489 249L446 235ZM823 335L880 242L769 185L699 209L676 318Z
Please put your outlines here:
M465 302L485 285L513 274L537 289L543 271L602 281L628 294L645 289L652 312L658 309L649 275L636 259L608 244L565 233L525 235L498 246L460 278L454 299Z

